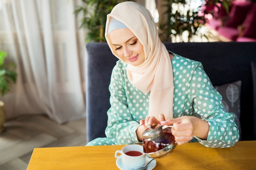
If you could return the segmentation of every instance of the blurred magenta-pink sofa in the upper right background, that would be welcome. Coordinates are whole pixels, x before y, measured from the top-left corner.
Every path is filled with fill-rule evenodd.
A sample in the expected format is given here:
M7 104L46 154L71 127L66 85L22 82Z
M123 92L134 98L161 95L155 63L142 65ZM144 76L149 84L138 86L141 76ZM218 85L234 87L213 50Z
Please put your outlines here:
M223 12L207 21L211 29L218 31L221 41L256 41L256 2L236 0L231 3L230 13ZM221 15L221 16L219 16Z

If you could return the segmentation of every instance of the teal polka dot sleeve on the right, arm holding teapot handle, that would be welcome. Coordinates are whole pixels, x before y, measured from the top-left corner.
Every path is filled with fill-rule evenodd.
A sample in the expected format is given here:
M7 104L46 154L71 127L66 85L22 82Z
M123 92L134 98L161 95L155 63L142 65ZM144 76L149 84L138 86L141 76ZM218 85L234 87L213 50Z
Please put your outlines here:
M196 62L189 82L189 99L193 102L195 114L209 124L207 140L198 137L198 141L212 148L234 146L239 140L239 130L234 113L227 113L222 104L222 96L211 84L200 62ZM202 84L203 82L203 84Z

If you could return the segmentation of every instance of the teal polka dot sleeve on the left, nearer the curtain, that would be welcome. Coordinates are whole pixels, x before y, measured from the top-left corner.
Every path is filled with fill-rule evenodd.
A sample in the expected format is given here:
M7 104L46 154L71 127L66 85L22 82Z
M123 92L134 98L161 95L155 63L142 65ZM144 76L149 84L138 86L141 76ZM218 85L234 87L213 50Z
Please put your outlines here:
M126 67L120 61L113 68L110 78L110 109L108 110L108 125L105 130L106 137L114 144L139 143L136 130L139 122L132 119L128 109L124 75Z

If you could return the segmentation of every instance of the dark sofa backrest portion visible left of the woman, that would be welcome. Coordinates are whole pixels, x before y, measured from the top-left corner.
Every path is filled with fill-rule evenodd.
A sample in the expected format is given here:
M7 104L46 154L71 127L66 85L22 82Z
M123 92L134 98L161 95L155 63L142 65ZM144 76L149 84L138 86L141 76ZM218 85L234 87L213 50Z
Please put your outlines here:
M86 136L87 142L106 137L107 110L110 108L108 86L112 68L118 60L107 43L86 44Z

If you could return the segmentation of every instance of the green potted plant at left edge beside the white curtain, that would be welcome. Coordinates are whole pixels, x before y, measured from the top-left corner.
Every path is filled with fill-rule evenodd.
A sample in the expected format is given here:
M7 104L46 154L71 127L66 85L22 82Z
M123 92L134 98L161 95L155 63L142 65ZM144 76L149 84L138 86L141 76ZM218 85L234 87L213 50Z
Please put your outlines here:
M0 51L0 95L4 96L11 90L11 85L16 83L17 73L14 70L16 65L14 63L5 63L4 60L7 53ZM6 119L4 102L0 101L0 132L4 131L3 123Z

